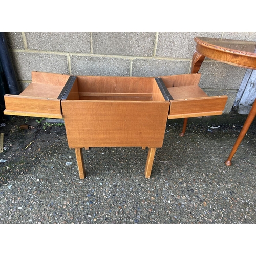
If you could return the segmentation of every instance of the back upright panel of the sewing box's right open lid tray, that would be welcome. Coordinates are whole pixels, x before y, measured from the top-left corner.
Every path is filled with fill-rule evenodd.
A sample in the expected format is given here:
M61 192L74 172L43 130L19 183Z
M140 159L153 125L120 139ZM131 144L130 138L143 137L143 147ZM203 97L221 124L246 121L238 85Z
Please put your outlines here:
M179 87L179 86L198 86L201 74L182 74L173 76L162 76L165 86Z

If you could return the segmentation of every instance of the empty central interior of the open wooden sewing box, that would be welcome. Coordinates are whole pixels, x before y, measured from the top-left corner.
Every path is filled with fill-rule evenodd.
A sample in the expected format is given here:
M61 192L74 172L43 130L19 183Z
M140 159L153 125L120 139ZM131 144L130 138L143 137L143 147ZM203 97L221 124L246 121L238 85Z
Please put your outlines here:
M77 76L63 99L164 101L151 77Z

